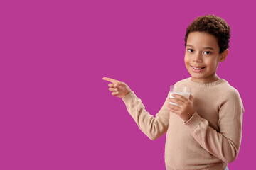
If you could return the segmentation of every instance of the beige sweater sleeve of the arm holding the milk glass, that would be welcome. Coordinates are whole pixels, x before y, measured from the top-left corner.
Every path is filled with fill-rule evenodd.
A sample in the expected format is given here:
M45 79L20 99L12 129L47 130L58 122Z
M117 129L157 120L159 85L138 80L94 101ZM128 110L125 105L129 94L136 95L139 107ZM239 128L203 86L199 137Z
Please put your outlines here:
M194 139L210 154L223 160L233 162L238 156L242 138L242 115L244 108L238 91L229 91L220 99L218 125L220 132L210 127L208 120L194 113L185 125Z

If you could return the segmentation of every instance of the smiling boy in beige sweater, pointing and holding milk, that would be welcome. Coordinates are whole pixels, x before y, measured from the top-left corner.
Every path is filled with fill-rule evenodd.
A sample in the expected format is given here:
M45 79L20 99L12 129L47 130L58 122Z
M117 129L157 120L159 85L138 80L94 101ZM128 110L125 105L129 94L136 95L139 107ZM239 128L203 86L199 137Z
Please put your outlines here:
M104 77L113 96L122 98L140 130L151 140L166 132L167 170L224 170L238 156L244 109L238 91L220 79L219 62L228 56L230 27L218 16L196 18L185 35L184 62L191 74L176 86L190 86L189 99L166 98L154 118L124 82ZM174 106L169 104L178 104Z

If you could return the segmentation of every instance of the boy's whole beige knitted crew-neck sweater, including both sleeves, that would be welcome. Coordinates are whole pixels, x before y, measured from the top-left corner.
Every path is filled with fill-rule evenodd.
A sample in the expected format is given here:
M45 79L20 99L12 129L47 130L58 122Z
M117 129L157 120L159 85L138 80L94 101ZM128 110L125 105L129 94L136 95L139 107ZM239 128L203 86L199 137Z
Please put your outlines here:
M178 81L177 86L191 86L196 112L186 123L164 105L154 118L131 91L122 100L139 129L151 140L166 132L167 170L224 170L238 156L242 138L244 109L238 91L219 79L210 84Z

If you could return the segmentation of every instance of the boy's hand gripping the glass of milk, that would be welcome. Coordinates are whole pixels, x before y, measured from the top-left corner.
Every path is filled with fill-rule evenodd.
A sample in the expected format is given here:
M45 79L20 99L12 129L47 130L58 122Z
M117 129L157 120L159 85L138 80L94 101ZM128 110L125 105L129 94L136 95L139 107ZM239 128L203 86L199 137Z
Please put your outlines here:
M171 96L175 98L169 98L168 101L176 103L179 106L168 103L169 111L179 115L185 122L188 121L193 113L195 113L195 109L193 108L193 96L190 95L189 100L178 94L171 94Z

